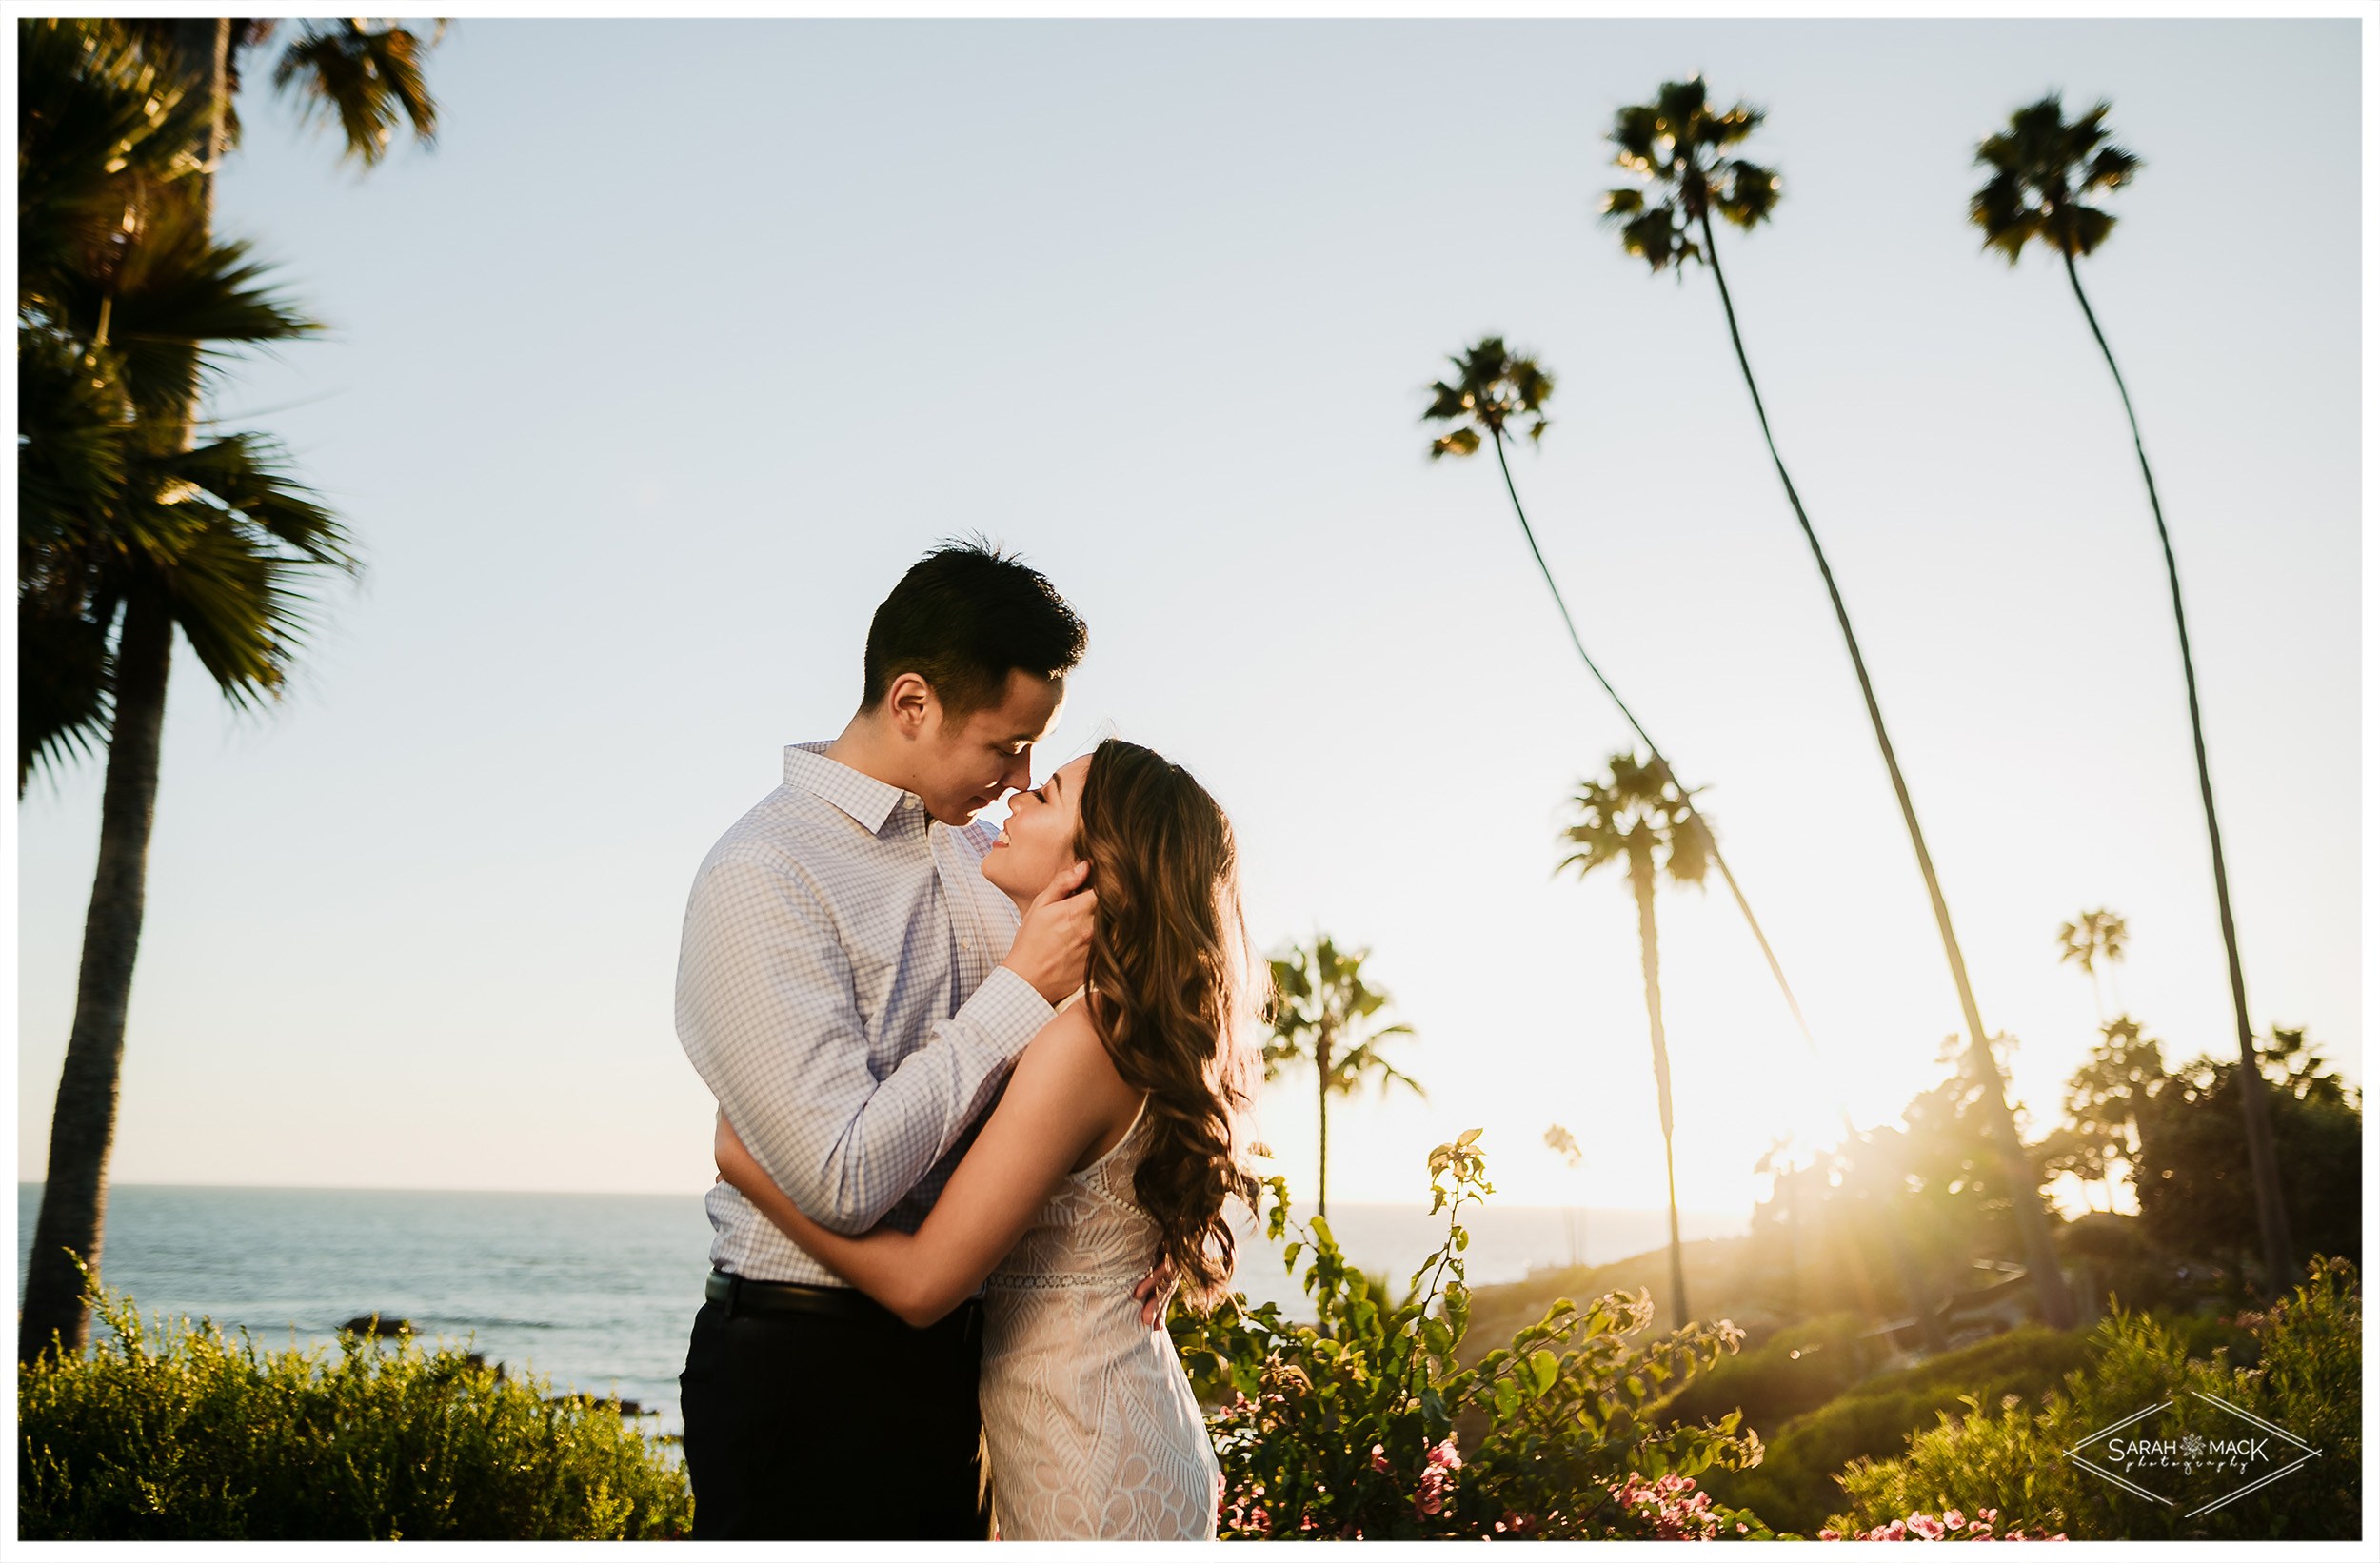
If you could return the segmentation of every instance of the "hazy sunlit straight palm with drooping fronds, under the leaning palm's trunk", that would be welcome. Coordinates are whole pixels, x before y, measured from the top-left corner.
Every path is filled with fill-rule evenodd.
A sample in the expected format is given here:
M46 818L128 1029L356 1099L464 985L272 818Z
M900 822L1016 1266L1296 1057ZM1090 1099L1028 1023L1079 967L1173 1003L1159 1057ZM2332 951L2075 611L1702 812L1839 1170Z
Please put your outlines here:
M1661 1101L1661 1170L1668 1178L1668 1297L1671 1318L1690 1318L1685 1301L1685 1242L1678 1232L1678 1154L1668 1085L1668 1028L1661 1023L1661 935L1654 925L1654 885L1702 885L1711 866L1711 830L1661 761L1614 754L1611 771L1578 783L1571 799L1576 821L1561 840L1578 847L1557 864L1580 878L1604 864L1628 866L1628 890L1637 904L1637 959L1645 973L1645 1018L1652 1025L1652 1080Z

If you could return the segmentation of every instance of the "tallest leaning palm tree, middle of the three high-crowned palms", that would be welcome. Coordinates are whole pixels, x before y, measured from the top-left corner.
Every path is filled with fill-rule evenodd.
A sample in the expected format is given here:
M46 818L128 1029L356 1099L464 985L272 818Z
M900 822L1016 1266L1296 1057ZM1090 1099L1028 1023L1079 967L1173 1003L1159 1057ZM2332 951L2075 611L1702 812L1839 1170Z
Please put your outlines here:
M1706 88L1699 76L1692 81L1664 81L1652 102L1618 109L1609 136L1609 140L1618 147L1614 162L1635 174L1640 186L1609 190L1604 195L1604 219L1618 224L1621 247L1626 247L1628 255L1640 257L1647 266L1652 266L1652 271L1659 274L1668 266L1680 266L1683 276L1685 262L1702 262L1711 269L1711 281L1718 283L1718 305L1728 316L1728 340L1735 343L1735 364L1742 369L1745 390L1752 393L1752 412L1759 419L1761 440L1768 445L1768 462L1778 471L1778 483L1785 485L1785 500L1792 504L1795 521L1802 526L1802 538L1809 542L1811 559L1818 564L1818 578L1825 583L1825 595L1835 604L1835 623L1842 630L1844 649L1852 654L1852 673L1859 678L1859 692L1868 704L1868 723L1875 728L1875 747L1883 752L1885 773L1892 778L1892 795L1902 804L1902 823L1909 828L1909 845L1918 859L1918 873L1925 878L1925 895L1933 899L1935 925L1942 933L1942 954L1949 961L1952 985L1959 990L1959 1009L1968 1030L1968 1049L1975 1056L1978 1080L1987 1085L1985 1118L1990 1123L2002 1168L2006 1170L2009 1187L2018 1192L2016 1225L2025 1242L2025 1268L2033 1275L2033 1292L2040 1299L2042 1323L2063 1330L2075 1320L2073 1297L2068 1294L2066 1278L2059 1270L2056 1247L2049 1239L2049 1218L2042 1211L2042 1201L2040 1197L2025 1197L2025 1189L2035 1189L2037 1185L2033 1182L2025 1149L2016 1135L2016 1118L2009 1111L2009 1085L1992 1059L1987 1040L1990 1032L1983 1028L1975 990L1966 978L1966 956L1959 952L1959 935L1949 923L1949 902L1942 899L1942 883L1935 875L1933 854L1925 852L1925 833L1918 830L1916 804L1909 802L1909 783L1902 778L1902 764L1892 754L1892 737L1885 733L1885 714L1875 702L1875 685L1868 680L1868 664L1859 654L1859 638L1852 633L1852 614L1842 604L1842 590L1835 585L1835 571L1825 561L1825 550L1818 547L1818 533L1809 523L1809 511L1802 507L1802 495L1792 485L1792 473L1785 471L1785 459L1778 454L1775 433L1768 428L1768 409L1761 402L1759 381L1752 378L1752 359L1745 352L1745 335L1735 319L1735 300L1728 293L1728 274L1718 264L1718 233L1711 226L1711 214L1716 212L1737 228L1749 231L1775 212L1778 195L1783 190L1775 169L1764 169L1733 155L1733 150L1742 147L1752 131L1759 128L1761 119L1761 109L1742 102L1726 112L1714 112L1706 102Z

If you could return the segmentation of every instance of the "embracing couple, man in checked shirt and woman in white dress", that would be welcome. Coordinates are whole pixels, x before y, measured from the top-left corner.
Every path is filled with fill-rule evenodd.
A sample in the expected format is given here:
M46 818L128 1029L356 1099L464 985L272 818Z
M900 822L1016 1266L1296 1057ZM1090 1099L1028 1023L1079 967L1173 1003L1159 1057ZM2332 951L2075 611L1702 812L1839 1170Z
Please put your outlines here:
M785 749L695 875L702 1539L1214 1537L1159 1320L1176 1282L1221 1294L1226 1199L1254 1189L1238 861L1138 745L1026 790L1083 645L1038 571L926 554L876 609L850 726Z

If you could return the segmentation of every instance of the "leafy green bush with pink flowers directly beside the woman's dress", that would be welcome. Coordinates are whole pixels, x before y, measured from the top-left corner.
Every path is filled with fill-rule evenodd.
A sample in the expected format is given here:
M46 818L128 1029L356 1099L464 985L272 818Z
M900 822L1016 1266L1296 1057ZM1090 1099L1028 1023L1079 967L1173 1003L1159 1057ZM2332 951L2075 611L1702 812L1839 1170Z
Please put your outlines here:
M1726 1416L1683 1425L1659 1413L1678 1385L1730 1354L1740 1332L1692 1325L1637 1342L1645 1294L1568 1299L1478 1363L1457 1363L1471 1316L1461 1206L1492 1192L1478 1130L1430 1151L1433 1213L1447 1237L1402 1301L1357 1273L1330 1223L1288 1218L1269 1180L1266 1228L1288 1268L1304 1261L1311 1325L1278 1304L1197 1318L1173 1339L1211 1416L1223 1463L1226 1537L1766 1537L1749 1513L1716 1508L1692 1477L1759 1461L1759 1437Z

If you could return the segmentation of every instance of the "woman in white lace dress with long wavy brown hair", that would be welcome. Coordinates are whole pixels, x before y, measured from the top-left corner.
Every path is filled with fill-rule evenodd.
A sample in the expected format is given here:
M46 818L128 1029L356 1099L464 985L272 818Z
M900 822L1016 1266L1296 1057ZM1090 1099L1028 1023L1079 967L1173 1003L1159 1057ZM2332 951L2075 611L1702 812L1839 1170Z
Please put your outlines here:
M1012 1539L1211 1539L1216 1461L1180 1358L1140 1323L1157 1251L1192 1304L1230 1280L1245 1002L1230 821L1121 740L1009 799L983 875L1028 904L1090 864L1085 987L1016 1059L916 1232L802 1216L726 1118L719 1170L823 1266L928 1325L985 1289L983 1435Z

